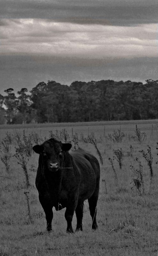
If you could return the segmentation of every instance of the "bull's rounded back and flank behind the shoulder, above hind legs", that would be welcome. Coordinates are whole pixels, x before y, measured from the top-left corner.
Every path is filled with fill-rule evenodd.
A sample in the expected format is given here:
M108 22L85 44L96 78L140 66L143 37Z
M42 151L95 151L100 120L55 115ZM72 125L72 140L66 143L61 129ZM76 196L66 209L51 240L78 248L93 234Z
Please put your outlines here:
M99 186L100 166L93 155L82 149L73 151L71 156L81 175L79 200L85 200L90 198L96 186Z

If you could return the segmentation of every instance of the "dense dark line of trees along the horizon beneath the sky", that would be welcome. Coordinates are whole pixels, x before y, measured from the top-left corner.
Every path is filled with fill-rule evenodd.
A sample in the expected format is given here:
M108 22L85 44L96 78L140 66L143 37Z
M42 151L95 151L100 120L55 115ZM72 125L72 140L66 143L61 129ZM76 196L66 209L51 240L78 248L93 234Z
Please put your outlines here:
M0 124L87 122L158 118L158 80L101 80L70 86L41 82L30 92L0 94Z

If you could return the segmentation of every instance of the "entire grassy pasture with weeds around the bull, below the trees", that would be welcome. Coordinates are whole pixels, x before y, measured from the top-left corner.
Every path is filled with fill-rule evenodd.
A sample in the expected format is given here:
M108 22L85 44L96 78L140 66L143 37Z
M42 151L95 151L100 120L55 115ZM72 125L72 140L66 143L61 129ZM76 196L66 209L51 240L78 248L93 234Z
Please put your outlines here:
M31 148L54 135L100 162L96 231L91 229L87 201L82 232L67 234L65 209L55 208L53 231L45 231L35 188L38 155ZM0 140L0 256L157 255L158 120L4 125ZM72 226L75 229L75 214Z

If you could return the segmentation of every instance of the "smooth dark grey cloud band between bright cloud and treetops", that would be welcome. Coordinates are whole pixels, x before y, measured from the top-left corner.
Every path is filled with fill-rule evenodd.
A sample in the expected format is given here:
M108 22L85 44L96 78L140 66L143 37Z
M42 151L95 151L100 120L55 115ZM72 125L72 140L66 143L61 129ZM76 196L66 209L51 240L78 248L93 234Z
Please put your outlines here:
M115 81L158 80L158 58L79 59L63 57L1 56L0 93L12 87L15 92L23 87L31 90L39 82L54 80L70 85L73 81L112 79Z

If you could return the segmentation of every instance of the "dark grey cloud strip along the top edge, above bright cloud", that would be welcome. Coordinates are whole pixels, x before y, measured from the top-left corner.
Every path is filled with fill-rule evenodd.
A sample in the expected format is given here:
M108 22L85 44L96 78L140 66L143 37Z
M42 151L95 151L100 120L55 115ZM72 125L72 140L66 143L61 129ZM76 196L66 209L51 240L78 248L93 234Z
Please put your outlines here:
M157 0L1 0L1 18L103 25L158 23Z

